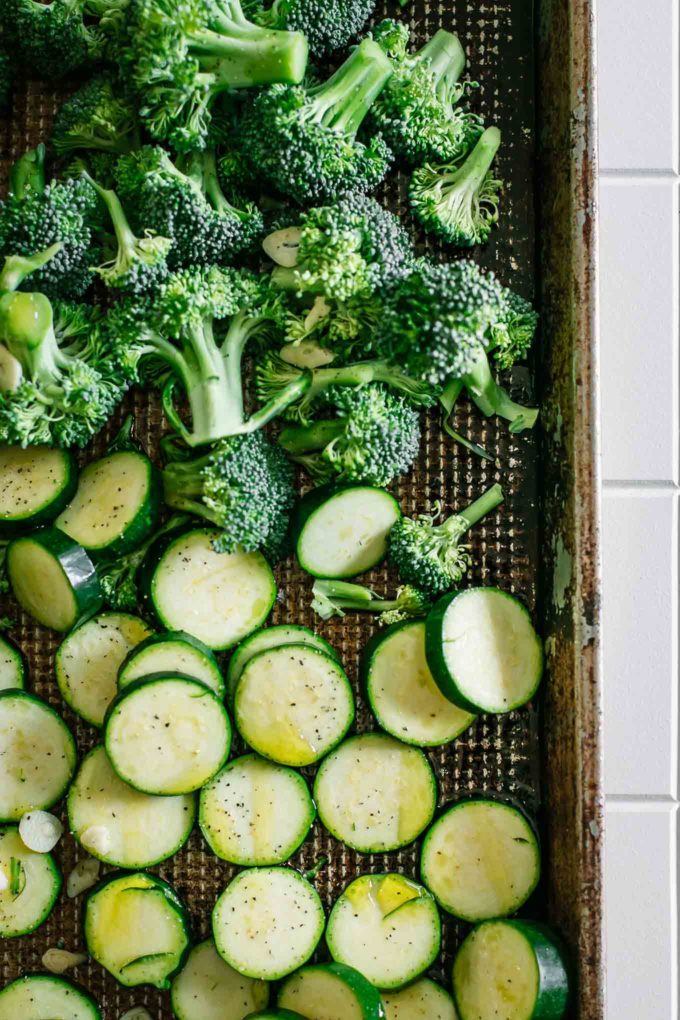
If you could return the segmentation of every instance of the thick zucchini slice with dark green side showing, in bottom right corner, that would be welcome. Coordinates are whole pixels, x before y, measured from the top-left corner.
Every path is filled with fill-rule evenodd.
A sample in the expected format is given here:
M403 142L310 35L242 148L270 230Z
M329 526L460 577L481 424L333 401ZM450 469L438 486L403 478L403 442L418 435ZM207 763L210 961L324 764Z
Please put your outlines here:
M535 921L484 921L454 961L460 1020L561 1020L569 978L557 935Z

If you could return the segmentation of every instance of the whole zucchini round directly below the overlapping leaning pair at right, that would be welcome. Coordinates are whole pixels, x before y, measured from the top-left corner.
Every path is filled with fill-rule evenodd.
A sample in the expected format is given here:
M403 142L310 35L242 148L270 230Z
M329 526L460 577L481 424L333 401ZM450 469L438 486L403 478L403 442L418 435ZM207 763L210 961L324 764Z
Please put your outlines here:
M436 780L422 751L385 733L362 733L323 760L314 800L336 839L362 854L383 854L427 828Z

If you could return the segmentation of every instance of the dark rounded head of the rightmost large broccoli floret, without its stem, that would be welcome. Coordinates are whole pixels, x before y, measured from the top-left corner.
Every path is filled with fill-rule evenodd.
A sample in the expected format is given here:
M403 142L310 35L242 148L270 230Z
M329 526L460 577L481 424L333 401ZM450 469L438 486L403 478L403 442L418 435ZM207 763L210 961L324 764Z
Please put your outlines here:
M421 261L385 295L376 353L431 386L462 375L488 345L489 327L502 321L503 290L474 262Z

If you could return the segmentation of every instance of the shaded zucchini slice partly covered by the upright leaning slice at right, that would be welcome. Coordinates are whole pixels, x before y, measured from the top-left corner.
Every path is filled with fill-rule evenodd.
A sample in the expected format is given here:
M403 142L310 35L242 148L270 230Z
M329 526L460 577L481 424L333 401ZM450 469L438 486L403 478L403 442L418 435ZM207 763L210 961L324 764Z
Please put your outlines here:
M405 744L450 744L475 721L434 682L425 658L423 620L405 620L376 633L364 650L362 674L378 724Z

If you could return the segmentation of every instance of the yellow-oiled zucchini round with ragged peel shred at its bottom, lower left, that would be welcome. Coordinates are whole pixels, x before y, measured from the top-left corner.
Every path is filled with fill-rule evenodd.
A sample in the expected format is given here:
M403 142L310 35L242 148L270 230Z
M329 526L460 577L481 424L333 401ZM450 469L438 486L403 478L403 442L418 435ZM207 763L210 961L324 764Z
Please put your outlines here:
M189 953L189 915L172 886L155 875L107 875L88 896L85 940L120 984L169 988Z

